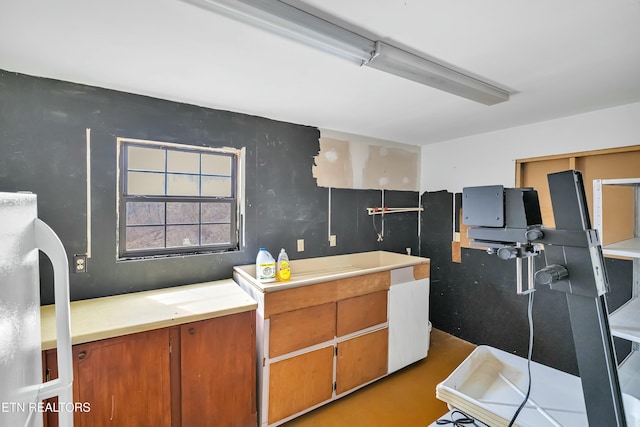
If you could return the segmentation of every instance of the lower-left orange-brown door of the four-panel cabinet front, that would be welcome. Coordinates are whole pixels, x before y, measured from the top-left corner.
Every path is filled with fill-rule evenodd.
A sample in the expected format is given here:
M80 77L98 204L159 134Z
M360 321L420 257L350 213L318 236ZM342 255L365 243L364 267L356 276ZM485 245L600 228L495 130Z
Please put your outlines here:
M331 399L334 346L272 363L269 424Z

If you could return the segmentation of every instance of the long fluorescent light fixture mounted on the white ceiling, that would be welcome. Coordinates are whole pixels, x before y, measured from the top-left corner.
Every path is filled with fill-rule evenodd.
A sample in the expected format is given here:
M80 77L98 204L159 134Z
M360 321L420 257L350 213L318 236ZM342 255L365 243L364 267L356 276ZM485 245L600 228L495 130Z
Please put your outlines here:
M434 60L370 40L279 0L182 0L279 34L358 65L485 105L508 101L510 92Z

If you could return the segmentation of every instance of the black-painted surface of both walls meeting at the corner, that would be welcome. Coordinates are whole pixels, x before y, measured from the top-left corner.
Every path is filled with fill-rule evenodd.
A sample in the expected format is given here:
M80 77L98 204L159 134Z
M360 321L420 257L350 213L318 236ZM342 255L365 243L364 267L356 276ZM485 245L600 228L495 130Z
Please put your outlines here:
M287 249L292 259L388 250L431 258L430 319L435 328L475 344L525 357L527 299L515 293L515 265L481 250L463 249L451 262L454 195L386 191L391 207L425 208L418 215L369 216L380 190L319 188L312 176L319 151L316 128L216 111L96 87L0 70L0 191L38 194L40 217L61 237L67 254L86 248L86 129L91 129L92 258L71 274L73 300L231 277L251 264L258 246ZM246 247L238 252L116 262L116 137L246 148ZM329 247L331 233L338 245ZM420 201L419 201L420 200ZM296 252L296 240L305 251ZM631 293L631 262L607 259L615 309ZM53 302L51 271L41 263L42 303ZM295 272L294 272L295 274ZM577 373L562 294L539 290L533 310L534 360ZM619 358L628 343L616 341Z

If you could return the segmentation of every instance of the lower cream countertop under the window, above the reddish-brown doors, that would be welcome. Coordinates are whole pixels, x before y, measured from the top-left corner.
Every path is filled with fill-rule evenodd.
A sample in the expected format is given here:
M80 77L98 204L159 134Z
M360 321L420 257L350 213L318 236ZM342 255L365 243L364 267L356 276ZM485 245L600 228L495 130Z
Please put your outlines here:
M255 310L257 302L233 279L74 301L71 342L112 338ZM40 308L42 350L56 347L55 308Z

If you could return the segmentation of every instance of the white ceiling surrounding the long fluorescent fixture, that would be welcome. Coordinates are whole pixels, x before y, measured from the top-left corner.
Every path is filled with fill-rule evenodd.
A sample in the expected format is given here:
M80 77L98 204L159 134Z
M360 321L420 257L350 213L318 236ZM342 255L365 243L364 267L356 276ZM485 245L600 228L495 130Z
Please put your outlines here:
M179 0L1 0L0 69L423 145L640 101L640 0L288 0L516 92L491 107Z

